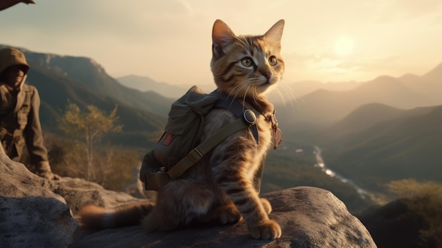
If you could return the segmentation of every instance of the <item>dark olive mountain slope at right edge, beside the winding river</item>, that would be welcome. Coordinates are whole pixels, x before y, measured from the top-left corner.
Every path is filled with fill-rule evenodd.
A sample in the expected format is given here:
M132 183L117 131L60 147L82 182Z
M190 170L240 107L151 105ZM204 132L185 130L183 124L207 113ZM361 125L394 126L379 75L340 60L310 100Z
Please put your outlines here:
M364 109L352 115L363 114ZM442 182L442 105L413 110L378 107L376 113L382 112L394 117L321 144L328 167L371 190L381 190L381 184L395 179Z

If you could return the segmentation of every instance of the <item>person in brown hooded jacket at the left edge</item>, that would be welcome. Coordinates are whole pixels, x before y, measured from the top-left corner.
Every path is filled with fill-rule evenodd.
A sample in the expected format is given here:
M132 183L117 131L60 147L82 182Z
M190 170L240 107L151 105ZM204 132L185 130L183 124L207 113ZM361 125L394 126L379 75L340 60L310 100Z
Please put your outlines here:
M43 144L40 96L37 88L25 83L29 68L23 52L15 48L0 50L0 153L21 162L26 146L35 174L59 179L52 173Z

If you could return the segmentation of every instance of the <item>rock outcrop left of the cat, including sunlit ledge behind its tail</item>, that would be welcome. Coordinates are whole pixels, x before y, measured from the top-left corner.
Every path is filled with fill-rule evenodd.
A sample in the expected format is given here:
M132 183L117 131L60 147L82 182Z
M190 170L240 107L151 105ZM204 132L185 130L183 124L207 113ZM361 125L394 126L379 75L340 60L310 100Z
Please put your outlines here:
M81 207L146 201L85 179L49 181L1 153L0 175L0 247L68 247Z

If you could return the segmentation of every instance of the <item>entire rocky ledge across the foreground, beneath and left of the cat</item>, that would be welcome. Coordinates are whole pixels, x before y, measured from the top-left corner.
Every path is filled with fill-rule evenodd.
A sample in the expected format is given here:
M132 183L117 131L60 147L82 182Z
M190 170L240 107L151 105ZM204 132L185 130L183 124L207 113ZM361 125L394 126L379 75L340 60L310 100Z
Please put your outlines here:
M0 247L376 247L370 233L330 191L295 187L263 194L282 237L253 240L234 225L144 232L140 226L82 230L78 210L146 201L83 179L47 181L0 155Z

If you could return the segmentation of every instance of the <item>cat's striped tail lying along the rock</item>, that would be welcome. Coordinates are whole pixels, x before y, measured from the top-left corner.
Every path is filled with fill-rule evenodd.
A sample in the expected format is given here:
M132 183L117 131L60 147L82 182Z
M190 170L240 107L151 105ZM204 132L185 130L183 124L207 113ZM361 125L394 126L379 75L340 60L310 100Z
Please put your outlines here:
M152 211L154 203L143 201L117 206L112 209L97 206L84 206L78 213L78 222L82 228L104 229L119 228L140 224L141 219Z

